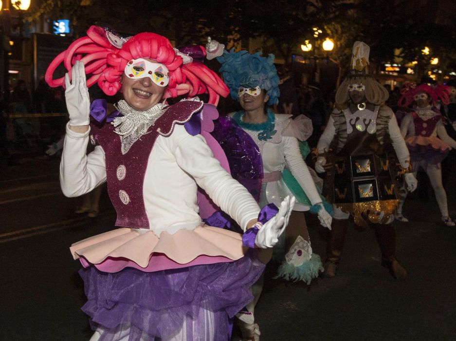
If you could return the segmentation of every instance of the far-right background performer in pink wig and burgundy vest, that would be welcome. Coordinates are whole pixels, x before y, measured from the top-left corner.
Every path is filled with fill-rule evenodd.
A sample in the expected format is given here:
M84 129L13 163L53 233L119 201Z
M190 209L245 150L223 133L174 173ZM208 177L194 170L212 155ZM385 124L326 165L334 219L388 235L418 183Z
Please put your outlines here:
M401 134L410 151L413 172L415 176L419 170L426 172L436 194L441 220L444 225L453 227L455 222L448 214L447 197L442 185L441 161L452 148L456 148L456 141L448 136L442 115L435 106L438 101L448 105L449 96L450 88L446 85L432 87L420 84L405 89L398 104L406 108L414 104L413 112L406 114L401 122ZM402 215L405 196L397 210L397 216L402 221L407 221Z

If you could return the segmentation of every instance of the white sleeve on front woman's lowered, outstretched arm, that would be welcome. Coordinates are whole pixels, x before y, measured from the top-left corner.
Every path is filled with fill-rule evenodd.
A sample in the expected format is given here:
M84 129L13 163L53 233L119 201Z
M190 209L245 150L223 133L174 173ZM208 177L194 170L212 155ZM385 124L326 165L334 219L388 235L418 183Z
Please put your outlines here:
M247 223L257 219L260 212L254 197L221 167L204 137L200 134L192 136L185 131L182 133L184 129L176 125L171 135L173 141L170 148L179 167L193 176L214 203L246 230Z

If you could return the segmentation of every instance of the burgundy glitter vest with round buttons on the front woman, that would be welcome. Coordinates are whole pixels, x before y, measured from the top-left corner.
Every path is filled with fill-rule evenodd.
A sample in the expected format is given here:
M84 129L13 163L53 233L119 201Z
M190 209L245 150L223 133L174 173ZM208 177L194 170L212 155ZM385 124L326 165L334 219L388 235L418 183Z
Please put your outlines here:
M147 163L158 135L169 136L175 124L183 124L199 112L203 103L181 101L169 106L166 112L137 140L126 154L121 152L120 136L111 124L93 129L94 139L105 152L109 198L117 212L115 225L149 227L144 205L144 178Z

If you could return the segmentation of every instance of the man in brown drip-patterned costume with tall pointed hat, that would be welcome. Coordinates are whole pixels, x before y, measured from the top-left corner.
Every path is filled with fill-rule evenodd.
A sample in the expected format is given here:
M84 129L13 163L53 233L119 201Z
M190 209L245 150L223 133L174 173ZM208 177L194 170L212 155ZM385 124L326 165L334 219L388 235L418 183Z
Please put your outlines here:
M394 178L405 174L410 190L417 181L396 117L384 105L388 92L368 74L368 66L369 46L356 41L350 73L337 89L335 109L317 145L315 170L327 171L325 187L334 206L325 269L327 276L335 276L351 215L358 226L373 224L382 265L395 278L404 278L395 255Z

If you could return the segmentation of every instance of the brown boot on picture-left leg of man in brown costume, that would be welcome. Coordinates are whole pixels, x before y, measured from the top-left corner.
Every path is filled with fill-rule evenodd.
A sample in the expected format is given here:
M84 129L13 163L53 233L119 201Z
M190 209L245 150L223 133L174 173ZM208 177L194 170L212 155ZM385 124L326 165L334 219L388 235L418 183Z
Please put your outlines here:
M345 236L347 234L348 220L333 219L331 230L328 231L326 245L326 262L324 268L326 277L336 275L337 265L339 265L342 250L344 249Z

